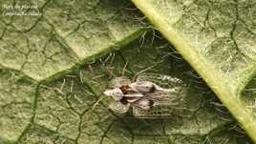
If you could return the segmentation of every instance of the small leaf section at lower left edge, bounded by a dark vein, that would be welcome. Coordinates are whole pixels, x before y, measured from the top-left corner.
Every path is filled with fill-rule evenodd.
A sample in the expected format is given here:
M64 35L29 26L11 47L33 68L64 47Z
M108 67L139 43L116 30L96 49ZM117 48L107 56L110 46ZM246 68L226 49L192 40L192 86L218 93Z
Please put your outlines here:
M0 142L16 140L33 116L36 85L19 72L0 70Z

